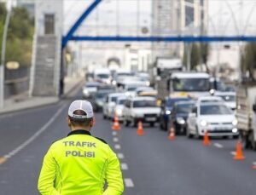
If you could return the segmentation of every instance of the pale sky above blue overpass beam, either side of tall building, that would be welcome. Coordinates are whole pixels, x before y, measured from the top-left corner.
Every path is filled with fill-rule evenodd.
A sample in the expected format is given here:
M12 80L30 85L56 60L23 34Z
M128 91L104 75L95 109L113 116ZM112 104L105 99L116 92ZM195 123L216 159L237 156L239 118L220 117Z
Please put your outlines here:
M64 0L65 32L91 2L92 0ZM137 2L139 2L140 11L139 21L137 20ZM256 0L209 0L209 34L254 34L256 12L253 10L255 9ZM138 26L139 29L143 26L150 29L151 10L151 0L103 0L79 28L77 34L84 35L85 32L87 35L135 35Z

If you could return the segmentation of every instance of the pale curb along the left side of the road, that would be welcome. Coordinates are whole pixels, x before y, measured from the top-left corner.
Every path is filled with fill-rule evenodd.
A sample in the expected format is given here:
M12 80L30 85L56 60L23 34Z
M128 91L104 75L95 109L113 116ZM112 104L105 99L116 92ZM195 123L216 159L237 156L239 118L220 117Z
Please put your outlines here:
M75 89L79 89L82 86L83 81L84 81L84 78L79 79L79 81L76 84L74 84L71 89L68 89L66 94L62 95L62 97L55 97L55 100L53 97L53 100L49 100L48 102L44 102L43 104L36 104L36 105L32 105L32 106L20 107L20 108L16 108L13 110L7 110L7 111L0 110L0 116L3 116L5 114L14 113L14 112L16 113L16 112L28 111L28 110L32 110L32 109L38 108L38 107L54 105L54 104L60 102L61 100L67 98L67 96L70 95L73 91L75 91Z

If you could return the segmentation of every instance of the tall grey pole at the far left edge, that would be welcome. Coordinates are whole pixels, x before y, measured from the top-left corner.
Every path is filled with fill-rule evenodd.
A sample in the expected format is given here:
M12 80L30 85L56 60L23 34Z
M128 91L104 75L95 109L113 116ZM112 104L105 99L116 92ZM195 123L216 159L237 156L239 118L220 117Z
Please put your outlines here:
M12 11L12 0L9 0L9 9L7 9L7 15L3 27L3 41L2 41L2 53L0 64L0 108L3 108L4 101L4 65L5 65L5 52L6 52L6 40L8 34L9 20Z

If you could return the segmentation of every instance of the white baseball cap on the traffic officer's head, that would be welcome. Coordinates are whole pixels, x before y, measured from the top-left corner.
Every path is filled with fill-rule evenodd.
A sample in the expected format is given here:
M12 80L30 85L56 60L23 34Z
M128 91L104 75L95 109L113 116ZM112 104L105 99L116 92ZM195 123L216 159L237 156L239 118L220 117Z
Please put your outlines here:
M74 114L74 112L81 110L85 115ZM74 100L68 108L68 116L71 118L93 118L93 109L89 101L87 100Z

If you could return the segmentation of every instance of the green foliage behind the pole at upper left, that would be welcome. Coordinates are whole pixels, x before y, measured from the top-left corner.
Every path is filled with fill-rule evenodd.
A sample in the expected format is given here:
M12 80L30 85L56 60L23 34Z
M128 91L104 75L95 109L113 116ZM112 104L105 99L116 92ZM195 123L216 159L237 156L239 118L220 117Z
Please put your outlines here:
M2 46L3 26L6 18L6 9L0 3L0 44ZM6 61L18 61L20 66L30 66L32 58L32 20L26 9L13 8L9 23ZM1 52L2 47L0 47Z

